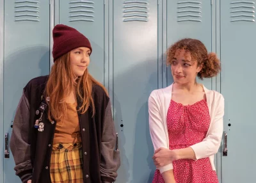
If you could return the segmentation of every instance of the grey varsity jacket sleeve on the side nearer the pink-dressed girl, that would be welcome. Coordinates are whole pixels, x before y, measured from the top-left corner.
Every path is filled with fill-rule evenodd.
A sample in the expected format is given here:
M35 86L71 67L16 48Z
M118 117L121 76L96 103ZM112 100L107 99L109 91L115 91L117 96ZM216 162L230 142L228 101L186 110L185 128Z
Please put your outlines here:
M100 175L103 183L114 182L120 167L120 153L116 150L116 131L110 101L106 107L101 142Z

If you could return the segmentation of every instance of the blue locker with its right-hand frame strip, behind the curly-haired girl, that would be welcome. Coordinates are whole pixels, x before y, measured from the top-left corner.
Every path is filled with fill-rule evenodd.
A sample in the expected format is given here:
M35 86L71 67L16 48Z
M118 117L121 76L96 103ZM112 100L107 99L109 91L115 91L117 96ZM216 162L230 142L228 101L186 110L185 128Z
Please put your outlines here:
M213 0L197 0L197 1L166 1L166 40L167 47L170 47L177 40L182 38L196 38L202 41L207 47L208 52L216 52L219 54L218 40L216 36L216 15L217 2ZM218 27L219 28L219 27ZM220 38L220 37L218 37ZM163 40L164 41L164 40ZM166 76L167 86L173 83L172 73L170 67L167 68ZM211 79L204 79L201 81L197 79L198 83L204 84L209 90L217 90L220 92L220 75ZM221 181L221 153L218 152L214 157L216 172L219 181Z

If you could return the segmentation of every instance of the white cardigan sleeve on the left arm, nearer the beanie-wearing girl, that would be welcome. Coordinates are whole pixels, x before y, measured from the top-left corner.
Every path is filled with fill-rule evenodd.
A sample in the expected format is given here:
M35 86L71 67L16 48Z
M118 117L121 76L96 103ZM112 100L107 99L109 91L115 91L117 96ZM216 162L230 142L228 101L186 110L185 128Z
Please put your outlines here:
M160 102L159 96L156 93L156 90L150 94L148 98L148 113L149 113L149 129L150 129L150 136L152 139L152 143L154 146L154 150L158 148L169 148L168 147L168 136L166 136L166 132L164 131L164 121L163 117L161 116L160 112ZM166 166L162 166L159 168L160 173L164 171L172 170L173 165L172 163L167 164Z

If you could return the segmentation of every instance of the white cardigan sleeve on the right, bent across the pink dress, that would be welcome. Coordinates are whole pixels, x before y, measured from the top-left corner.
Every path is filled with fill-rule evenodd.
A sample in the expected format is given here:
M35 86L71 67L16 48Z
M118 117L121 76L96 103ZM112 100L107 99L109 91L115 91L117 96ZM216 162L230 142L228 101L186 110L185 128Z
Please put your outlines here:
M208 135L200 143L192 145L195 152L196 159L202 159L209 157L218 152L221 143L221 137L223 133L223 116L224 116L224 98L220 94L219 100L216 102L216 113L212 116L213 121L209 129Z

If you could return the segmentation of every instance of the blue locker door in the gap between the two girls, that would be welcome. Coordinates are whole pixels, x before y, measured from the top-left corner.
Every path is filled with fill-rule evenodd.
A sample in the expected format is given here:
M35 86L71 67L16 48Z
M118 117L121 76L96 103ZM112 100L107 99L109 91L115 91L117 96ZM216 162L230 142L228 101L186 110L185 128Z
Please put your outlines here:
M111 95L122 160L116 182L151 182L156 170L147 100L158 87L157 12L156 0L113 1Z

